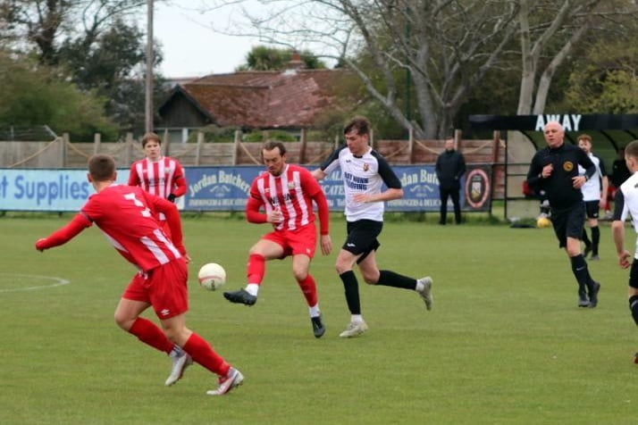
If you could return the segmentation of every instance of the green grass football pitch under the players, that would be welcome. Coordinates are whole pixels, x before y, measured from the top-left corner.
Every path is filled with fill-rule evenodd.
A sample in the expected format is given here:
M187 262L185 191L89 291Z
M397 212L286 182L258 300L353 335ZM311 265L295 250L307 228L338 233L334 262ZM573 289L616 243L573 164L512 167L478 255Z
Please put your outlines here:
M246 377L230 395L210 397L215 379L199 366L164 387L166 356L115 326L134 271L97 229L44 254L33 248L69 218L0 218L0 423L635 423L638 335L609 227L602 260L590 262L602 283L590 310L575 306L569 262L550 229L389 221L381 267L431 274L434 308L412 292L361 283L370 329L343 340L349 314L335 253L313 262L328 328L315 339L290 259L267 264L251 308L197 286L197 266L220 262L224 289L243 287L248 248L266 226L188 217L189 327ZM343 234L335 218L336 247ZM37 276L70 284L24 290L52 283Z

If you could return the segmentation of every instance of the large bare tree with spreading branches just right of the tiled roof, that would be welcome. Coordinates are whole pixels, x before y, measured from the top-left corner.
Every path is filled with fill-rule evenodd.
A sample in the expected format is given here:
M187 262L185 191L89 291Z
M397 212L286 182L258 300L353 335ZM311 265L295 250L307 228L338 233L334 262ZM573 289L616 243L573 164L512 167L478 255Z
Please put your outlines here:
M248 15L257 32L251 35L289 46L321 46L320 58L355 71L370 96L416 137L449 132L466 97L516 35L517 4L508 0L259 3L270 12ZM401 101L408 83L414 119L408 99Z

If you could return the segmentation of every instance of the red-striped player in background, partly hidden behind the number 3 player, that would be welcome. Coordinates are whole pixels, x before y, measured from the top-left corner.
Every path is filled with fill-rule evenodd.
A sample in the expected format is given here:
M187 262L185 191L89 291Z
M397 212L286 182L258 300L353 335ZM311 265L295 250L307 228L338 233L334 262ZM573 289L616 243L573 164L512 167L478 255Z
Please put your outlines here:
M186 179L181 164L170 156L162 156L162 139L153 132L142 137L142 148L147 157L130 166L129 186L139 186L148 193L175 202L186 193ZM166 218L159 214L167 230Z

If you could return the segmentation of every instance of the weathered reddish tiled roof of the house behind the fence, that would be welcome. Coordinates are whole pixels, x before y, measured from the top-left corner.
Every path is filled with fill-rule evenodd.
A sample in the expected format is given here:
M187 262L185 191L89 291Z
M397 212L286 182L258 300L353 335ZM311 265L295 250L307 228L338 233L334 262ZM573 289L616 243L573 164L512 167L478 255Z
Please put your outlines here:
M220 126L302 128L337 108L351 84L360 83L344 70L288 70L213 74L181 87Z

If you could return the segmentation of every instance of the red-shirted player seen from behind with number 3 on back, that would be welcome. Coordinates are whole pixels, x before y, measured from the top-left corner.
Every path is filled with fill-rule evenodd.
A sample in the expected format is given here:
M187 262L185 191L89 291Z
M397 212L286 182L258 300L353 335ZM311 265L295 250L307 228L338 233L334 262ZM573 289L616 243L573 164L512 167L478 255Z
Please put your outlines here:
M177 207L140 187L117 185L116 177L111 156L92 156L88 160L88 181L97 194L89 196L66 226L38 239L36 249L44 251L63 245L95 223L117 252L139 270L115 309L115 322L143 343L171 356L172 371L166 386L177 382L195 361L219 376L218 387L206 394L227 393L241 384L243 376L216 354L204 338L186 327L189 257L182 244ZM172 237L164 233L155 218L158 212L164 213ZM151 306L162 329L139 317Z

